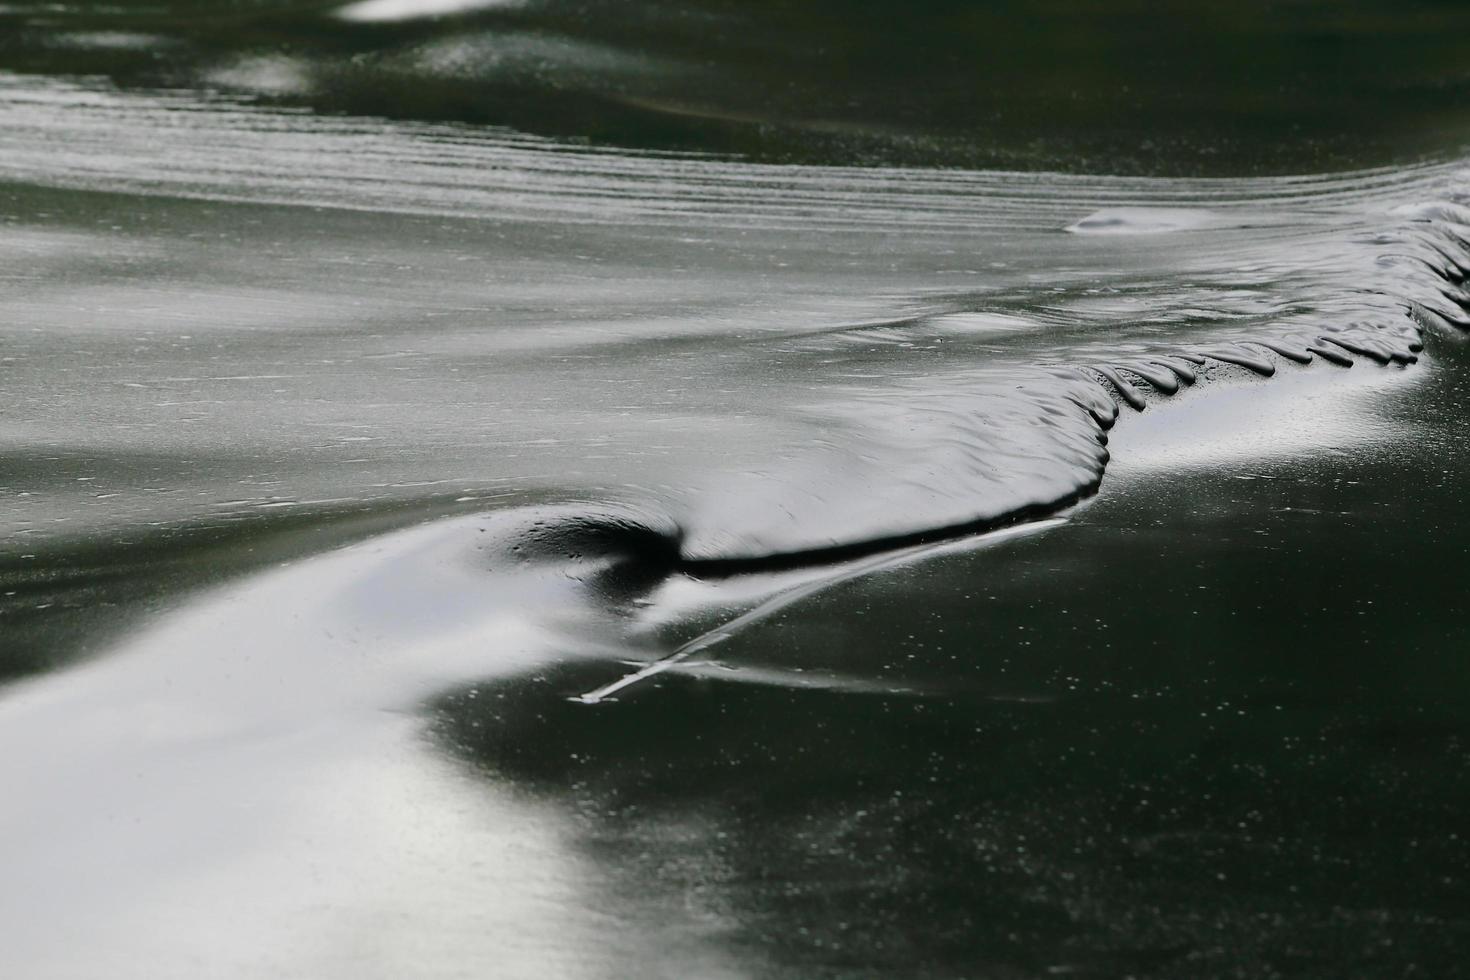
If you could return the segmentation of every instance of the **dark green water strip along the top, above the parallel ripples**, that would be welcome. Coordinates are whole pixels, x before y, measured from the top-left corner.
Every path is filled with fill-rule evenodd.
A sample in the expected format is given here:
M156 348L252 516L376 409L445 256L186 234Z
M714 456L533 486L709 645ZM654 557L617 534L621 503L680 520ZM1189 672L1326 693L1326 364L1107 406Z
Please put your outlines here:
M1304 173L1458 150L1467 28L1439 0L21 0L0 68L803 163Z

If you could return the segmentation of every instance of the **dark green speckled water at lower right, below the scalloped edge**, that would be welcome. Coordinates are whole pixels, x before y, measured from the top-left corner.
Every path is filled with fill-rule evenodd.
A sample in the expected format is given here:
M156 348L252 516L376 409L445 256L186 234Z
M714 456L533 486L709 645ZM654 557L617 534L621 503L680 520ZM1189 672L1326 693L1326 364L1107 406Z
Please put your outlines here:
M1195 455L1130 466L1125 425L1064 529L817 594L591 711L557 695L606 669L463 688L440 738L754 976L1454 976L1470 636L1420 569L1464 536L1395 500L1464 504L1460 353L1399 392L1408 442L1367 411L1201 469L1179 416Z

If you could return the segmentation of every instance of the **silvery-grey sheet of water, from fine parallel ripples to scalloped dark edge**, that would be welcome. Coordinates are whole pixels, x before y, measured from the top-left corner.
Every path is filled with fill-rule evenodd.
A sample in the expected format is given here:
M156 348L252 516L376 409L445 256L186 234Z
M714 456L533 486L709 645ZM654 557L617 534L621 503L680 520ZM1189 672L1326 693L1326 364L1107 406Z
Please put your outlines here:
M1458 165L908 178L497 132L444 151L441 128L9 81L0 166L72 188L10 191L28 550L426 488L637 502L689 560L907 542L1095 489L1108 392L1408 363L1423 329L1470 325ZM323 147L329 173L288 165Z

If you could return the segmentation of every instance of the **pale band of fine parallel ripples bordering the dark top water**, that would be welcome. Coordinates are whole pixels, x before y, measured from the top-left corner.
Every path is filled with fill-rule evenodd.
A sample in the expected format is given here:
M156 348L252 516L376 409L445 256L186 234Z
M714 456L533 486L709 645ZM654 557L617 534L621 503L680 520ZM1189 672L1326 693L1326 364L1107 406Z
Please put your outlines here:
M1130 207L1135 216L1195 209L1194 223L1214 228L1323 223L1454 170L1122 178L773 165L3 71L0 150L0 178L50 187L579 225L906 234L1050 231Z

